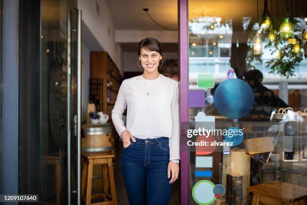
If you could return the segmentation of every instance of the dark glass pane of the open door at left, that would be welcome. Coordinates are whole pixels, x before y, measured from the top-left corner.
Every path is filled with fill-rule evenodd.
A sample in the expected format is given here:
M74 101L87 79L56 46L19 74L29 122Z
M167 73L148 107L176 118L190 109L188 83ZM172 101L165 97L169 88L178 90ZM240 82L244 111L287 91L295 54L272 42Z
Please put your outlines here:
M69 121L73 123L73 115L68 117L67 106L68 101L71 101L74 108L76 99L74 88L73 98L67 98L67 10L74 7L76 1L41 2L41 202L43 204L68 204L67 123ZM73 18L76 18L75 12ZM72 29L75 29L76 20L71 24ZM75 38L75 34L72 35L72 45L75 45ZM72 52L72 55L76 56L76 52ZM74 61L75 58L72 59L72 64ZM76 86L75 77L72 79L74 82L72 84ZM72 147L74 143L72 142ZM76 167L74 148L71 153L72 164ZM76 168L72 168L73 171L76 171ZM71 180L72 190L76 190L76 173L71 175L74 177ZM75 198L73 195L73 204L76 204Z

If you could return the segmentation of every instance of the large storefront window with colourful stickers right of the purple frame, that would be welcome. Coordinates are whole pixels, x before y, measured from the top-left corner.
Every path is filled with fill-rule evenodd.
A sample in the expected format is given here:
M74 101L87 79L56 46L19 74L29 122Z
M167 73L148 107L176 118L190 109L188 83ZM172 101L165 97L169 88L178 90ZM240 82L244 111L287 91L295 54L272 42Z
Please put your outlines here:
M285 5L276 18L274 2L269 17L266 0L249 4L189 1L190 204L251 204L257 183L307 187L306 22L289 18L285 37Z

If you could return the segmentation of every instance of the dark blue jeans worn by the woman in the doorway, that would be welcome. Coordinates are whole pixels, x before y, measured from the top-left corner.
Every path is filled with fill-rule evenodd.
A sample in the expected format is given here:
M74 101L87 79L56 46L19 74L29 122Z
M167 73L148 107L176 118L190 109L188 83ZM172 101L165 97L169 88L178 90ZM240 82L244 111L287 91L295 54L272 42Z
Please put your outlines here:
M169 138L135 140L123 149L120 163L130 205L169 204Z

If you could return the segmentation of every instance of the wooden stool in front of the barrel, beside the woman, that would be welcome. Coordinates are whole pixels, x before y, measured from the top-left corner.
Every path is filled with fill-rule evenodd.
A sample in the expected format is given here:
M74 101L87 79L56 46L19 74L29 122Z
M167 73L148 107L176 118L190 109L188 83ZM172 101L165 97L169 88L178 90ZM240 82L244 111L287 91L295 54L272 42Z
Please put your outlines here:
M113 173L112 158L113 154L110 152L82 152L83 160L83 170L82 170L82 196L83 202L86 205L96 204L116 204L116 191L115 191L115 181ZM93 178L93 166L102 165L102 175L103 175L103 193L101 194L104 197L103 202L91 203L92 197L92 178ZM87 173L87 174L86 174ZM109 178L108 178L109 173ZM108 184L110 181L111 187L111 196L108 194ZM86 184L86 186L85 186ZM84 197L85 195L85 197ZM112 200L109 200L109 199Z

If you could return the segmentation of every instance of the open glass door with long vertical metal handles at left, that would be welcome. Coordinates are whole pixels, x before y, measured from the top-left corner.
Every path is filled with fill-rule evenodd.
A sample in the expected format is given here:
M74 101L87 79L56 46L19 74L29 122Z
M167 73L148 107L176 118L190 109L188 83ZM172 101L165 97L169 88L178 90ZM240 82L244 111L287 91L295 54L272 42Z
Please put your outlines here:
M41 1L41 202L80 204L81 11Z

